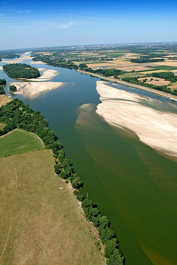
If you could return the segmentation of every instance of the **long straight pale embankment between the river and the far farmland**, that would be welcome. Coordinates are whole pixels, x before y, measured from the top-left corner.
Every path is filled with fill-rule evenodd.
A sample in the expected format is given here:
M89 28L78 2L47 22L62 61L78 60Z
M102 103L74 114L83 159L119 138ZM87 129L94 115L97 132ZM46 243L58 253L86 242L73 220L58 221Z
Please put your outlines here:
M171 94L168 94L166 92L159 91L159 90L155 90L153 88L144 87L144 86L137 85L137 84L132 84L132 83L129 83L129 82L125 82L125 81L116 79L116 78L106 77L106 76L103 76L101 74L95 74L95 73L85 72L85 71L82 71L80 69L77 69L77 71L80 72L80 73L83 73L83 74L90 74L92 76L99 77L99 78L105 79L107 81L117 82L117 83L120 83L120 84L123 84L123 85L127 85L127 86L131 86L131 87L137 87L139 89L143 89L143 90L152 92L152 93L154 93L156 95L159 95L159 96L162 96L162 97L168 97L171 100L176 100L177 101L177 96L174 96L174 95L171 95Z

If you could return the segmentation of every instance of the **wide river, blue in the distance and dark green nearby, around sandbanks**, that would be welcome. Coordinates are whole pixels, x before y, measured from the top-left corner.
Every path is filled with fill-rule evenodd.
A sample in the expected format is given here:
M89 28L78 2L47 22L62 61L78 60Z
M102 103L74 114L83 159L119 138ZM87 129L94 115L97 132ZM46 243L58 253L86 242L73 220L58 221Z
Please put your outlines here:
M175 160L142 143L135 133L110 126L95 113L101 103L96 90L99 78L74 69L31 66L55 69L58 75L50 81L67 83L36 98L17 97L41 111L49 128L55 130L84 183L81 192L84 195L88 192L100 212L108 216L125 264L176 265ZM0 78L7 80L6 95L10 94L11 79L3 70ZM121 84L115 87L159 100L144 90L132 90ZM81 107L83 104L89 105ZM177 113L177 102L164 97L151 107Z

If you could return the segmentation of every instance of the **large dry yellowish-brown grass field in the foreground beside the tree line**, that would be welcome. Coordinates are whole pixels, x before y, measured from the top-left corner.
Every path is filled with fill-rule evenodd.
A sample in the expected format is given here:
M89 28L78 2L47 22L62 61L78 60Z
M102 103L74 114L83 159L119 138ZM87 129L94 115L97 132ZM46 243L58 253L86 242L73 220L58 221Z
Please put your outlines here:
M0 264L105 265L51 150L0 158Z

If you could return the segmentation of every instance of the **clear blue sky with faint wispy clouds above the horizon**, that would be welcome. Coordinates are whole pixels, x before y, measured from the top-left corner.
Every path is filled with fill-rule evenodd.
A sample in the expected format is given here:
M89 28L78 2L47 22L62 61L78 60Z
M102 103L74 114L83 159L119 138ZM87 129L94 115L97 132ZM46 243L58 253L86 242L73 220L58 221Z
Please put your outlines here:
M177 41L176 1L0 0L0 49Z

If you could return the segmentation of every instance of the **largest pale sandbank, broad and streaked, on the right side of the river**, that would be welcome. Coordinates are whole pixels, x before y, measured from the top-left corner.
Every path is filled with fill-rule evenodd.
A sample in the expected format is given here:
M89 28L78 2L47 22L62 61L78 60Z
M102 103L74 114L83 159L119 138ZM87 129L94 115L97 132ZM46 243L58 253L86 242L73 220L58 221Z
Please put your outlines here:
M176 114L140 105L145 98L110 87L104 81L97 81L97 92L102 103L98 104L96 112L110 125L128 128L152 148L177 156Z

